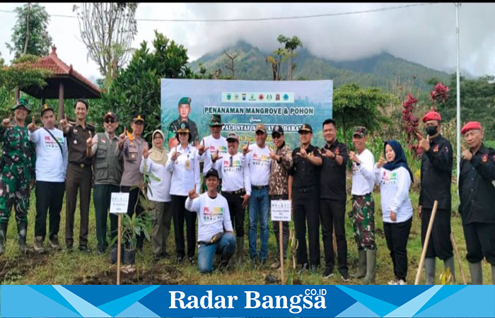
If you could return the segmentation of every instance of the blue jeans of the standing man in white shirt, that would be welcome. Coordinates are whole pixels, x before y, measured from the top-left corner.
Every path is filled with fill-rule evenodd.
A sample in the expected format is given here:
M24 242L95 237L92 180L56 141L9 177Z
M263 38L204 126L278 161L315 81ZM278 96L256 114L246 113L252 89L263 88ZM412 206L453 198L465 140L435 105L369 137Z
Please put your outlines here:
M270 200L268 196L268 187L264 187L261 190L252 189L251 196L249 198L249 254L252 259L257 256L256 252L256 238L257 238L257 225L258 214L260 215L260 228L261 228L261 251L260 259L267 259L268 257L268 214Z

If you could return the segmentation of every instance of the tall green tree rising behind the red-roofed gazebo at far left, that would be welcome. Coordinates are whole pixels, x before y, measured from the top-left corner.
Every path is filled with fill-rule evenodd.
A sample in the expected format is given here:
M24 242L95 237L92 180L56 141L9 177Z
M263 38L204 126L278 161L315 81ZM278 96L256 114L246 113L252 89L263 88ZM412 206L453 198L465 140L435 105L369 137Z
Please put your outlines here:
M52 37L47 31L50 15L45 7L28 3L18 6L14 11L17 13L17 21L12 28L11 44L6 43L9 51L15 52L14 57L17 59L23 54L43 57L50 54Z

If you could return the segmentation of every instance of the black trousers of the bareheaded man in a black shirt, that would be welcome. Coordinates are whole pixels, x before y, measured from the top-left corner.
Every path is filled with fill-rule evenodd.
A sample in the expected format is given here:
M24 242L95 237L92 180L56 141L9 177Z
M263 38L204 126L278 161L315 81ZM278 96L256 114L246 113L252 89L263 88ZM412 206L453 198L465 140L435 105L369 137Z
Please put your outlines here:
M345 213L346 201L320 200L320 221L322 223L323 248L325 249L325 266L328 269L334 268L333 229L335 228L337 263L341 273L348 271Z

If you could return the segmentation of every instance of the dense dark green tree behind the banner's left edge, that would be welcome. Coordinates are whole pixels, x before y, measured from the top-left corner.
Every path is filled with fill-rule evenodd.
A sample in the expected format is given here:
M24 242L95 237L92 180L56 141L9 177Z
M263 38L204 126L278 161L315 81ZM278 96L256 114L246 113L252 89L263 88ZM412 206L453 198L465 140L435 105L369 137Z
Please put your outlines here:
M147 42L141 43L127 68L122 69L112 82L109 93L103 94L105 109L102 107L102 113L96 114L103 118L105 112L112 110L125 124L129 123L134 112L146 114L144 138L148 142L152 131L161 127L160 79L194 77L186 66L185 47L155 30L153 48L154 52L150 52Z

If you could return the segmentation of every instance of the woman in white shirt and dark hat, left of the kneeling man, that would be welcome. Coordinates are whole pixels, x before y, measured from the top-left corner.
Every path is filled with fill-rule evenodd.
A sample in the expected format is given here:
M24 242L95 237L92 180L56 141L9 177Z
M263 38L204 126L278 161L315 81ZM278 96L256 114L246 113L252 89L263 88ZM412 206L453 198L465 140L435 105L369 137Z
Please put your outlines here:
M199 177L199 155L197 148L190 145L192 139L187 122L180 122L176 135L179 144L170 149L167 164L168 172L172 172L170 184L170 209L173 215L175 251L177 262L185 257L184 220L187 229L187 257L194 263L196 254L196 213L187 211L185 201L192 189L199 194L201 177Z

